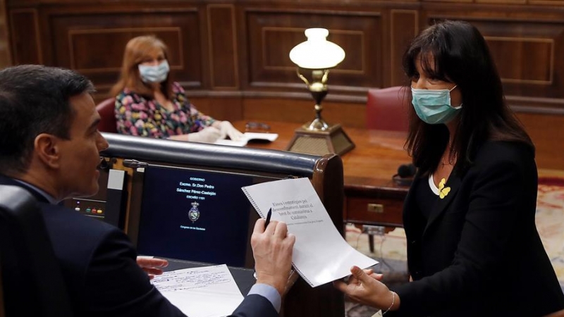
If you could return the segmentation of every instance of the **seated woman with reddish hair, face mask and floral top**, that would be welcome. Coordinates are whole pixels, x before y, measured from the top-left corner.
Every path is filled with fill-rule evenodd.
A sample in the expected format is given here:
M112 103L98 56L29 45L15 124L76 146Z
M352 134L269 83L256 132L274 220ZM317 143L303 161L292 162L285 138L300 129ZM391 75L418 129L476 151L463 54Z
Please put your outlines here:
M125 46L116 96L118 132L161 139L214 143L243 134L228 121L214 120L190 104L185 91L170 77L166 45L148 35Z

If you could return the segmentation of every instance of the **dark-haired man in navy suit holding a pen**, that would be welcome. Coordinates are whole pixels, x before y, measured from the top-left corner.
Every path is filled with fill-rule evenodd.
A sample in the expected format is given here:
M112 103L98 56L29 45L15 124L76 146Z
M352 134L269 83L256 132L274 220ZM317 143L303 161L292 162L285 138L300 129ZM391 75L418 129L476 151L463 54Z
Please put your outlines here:
M0 71L0 184L39 201L75 316L184 316L150 283L127 236L57 203L98 191L99 151L108 147L87 78L71 70ZM257 284L233 316L278 316L295 237L258 220L252 234Z

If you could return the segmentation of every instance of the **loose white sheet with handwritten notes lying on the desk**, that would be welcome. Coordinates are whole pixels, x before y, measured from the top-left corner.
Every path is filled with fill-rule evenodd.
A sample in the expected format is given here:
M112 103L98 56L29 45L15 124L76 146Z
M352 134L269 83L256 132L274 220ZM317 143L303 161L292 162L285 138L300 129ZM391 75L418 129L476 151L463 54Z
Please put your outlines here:
M165 272L151 282L190 317L228 316L243 302L243 294L225 264Z

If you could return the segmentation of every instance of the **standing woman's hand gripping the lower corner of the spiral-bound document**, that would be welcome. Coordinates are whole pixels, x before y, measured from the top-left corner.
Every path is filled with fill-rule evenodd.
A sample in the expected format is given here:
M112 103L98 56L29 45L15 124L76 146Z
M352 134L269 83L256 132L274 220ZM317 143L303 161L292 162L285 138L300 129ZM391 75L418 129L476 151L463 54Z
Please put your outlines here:
M392 311L399 308L398 295L388 290L388 287L380 282L381 274L376 274L372 270L362 271L358 266L353 266L350 273L353 273L353 275L350 276L348 282L341 280L333 282L333 285L350 299L384 311L391 306Z

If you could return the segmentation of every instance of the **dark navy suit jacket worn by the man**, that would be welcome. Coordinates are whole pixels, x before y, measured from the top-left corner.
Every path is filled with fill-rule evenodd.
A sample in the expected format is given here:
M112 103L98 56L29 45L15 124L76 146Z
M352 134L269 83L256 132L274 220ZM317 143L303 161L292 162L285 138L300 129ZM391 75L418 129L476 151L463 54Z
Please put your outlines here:
M137 266L133 245L121 230L48 204L35 190L2 175L0 184L24 187L40 201L75 316L185 316L149 283L147 273ZM274 317L278 313L264 297L250 295L233 316Z

